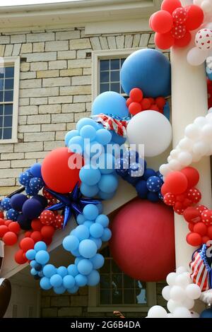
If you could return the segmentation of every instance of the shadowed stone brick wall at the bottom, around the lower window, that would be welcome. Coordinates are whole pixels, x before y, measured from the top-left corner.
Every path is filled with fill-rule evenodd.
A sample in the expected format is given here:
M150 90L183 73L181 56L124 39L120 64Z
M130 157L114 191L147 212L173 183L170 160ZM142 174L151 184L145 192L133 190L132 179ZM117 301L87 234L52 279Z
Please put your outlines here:
M157 304L165 307L166 301L163 299L161 292L165 282L156 284ZM117 305L117 310L119 306ZM121 310L122 311L122 310ZM124 312L126 317L145 317L146 312ZM75 295L56 295L51 290L42 291L41 293L41 317L113 317L111 312L88 312L88 287L81 288Z

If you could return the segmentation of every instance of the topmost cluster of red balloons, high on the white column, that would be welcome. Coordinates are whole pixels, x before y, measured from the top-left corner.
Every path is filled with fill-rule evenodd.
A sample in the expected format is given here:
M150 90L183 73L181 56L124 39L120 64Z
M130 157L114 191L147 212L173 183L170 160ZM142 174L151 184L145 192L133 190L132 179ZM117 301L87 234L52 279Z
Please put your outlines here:
M155 45L160 49L172 46L185 47L192 40L191 30L196 30L204 21L204 12L194 4L182 7L179 0L163 0L161 10L149 20L155 31Z

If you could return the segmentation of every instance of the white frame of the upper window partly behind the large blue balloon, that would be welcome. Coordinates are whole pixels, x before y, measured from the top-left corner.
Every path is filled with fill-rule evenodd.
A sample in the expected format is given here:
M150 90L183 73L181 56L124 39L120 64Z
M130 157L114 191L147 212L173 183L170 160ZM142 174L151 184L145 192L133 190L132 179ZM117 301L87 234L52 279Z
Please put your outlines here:
M92 99L99 95L100 86L100 61L104 59L119 59L120 57L128 57L131 53L140 48L133 49L104 49L102 51L92 52Z

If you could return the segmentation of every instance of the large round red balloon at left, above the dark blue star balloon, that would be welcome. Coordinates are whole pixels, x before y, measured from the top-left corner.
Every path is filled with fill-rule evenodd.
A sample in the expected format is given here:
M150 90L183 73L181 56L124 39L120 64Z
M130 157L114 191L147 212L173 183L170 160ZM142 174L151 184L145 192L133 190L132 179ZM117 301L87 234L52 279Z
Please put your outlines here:
M77 167L72 170L70 166L74 163ZM71 152L69 148L57 148L52 150L42 162L42 178L50 189L66 194L73 190L77 182L80 182L78 174L82 166L81 155Z

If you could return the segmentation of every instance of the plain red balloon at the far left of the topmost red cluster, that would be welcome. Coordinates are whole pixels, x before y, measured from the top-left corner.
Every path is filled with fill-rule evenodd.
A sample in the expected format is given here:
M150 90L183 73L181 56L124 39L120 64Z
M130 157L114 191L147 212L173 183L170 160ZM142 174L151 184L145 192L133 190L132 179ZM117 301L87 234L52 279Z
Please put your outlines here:
M151 28L155 32L169 32L173 25L173 18L168 11L157 11L151 16Z

